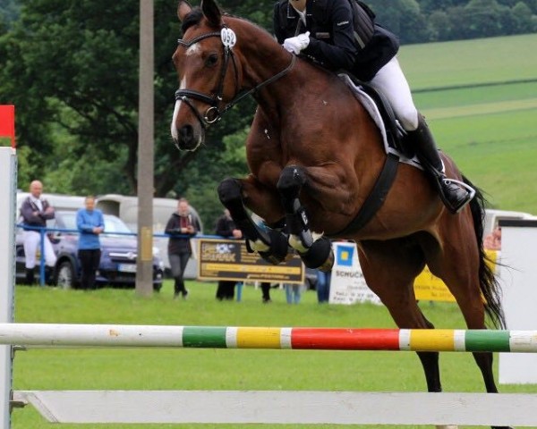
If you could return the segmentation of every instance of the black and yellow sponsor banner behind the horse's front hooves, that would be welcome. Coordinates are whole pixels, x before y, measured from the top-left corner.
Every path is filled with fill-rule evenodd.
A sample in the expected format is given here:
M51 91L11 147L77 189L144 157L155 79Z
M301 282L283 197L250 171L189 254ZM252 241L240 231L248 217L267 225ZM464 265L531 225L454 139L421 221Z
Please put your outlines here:
M198 279L303 284L304 266L298 256L272 265L248 253L243 240L200 239Z

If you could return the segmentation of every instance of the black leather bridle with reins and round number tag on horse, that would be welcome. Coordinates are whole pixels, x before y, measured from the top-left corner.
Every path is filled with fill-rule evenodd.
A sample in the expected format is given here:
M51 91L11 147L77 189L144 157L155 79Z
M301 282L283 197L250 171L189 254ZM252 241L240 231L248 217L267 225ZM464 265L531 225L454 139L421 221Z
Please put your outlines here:
M274 82L275 80L280 79L285 76L291 69L294 67L294 62L296 61L296 56L293 55L291 63L282 71L279 71L277 74L268 78L268 80L262 81L260 84L255 87L244 91L243 93L236 94L238 92L237 88L239 86L239 77L237 71L237 65L235 63L235 57L233 52L233 46L236 42L236 36L233 29L229 29L224 26L220 31L213 31L210 33L205 33L197 38L192 38L191 40L185 41L182 38L177 40L177 43L186 48L198 43L200 40L205 38L220 38L222 40L222 46L224 47L224 61L222 63L222 68L220 69L220 80L218 81L217 92L214 96L209 96L203 94L200 91L194 89L177 89L175 91L175 101L182 101L188 105L192 112L200 121L201 127L206 129L210 124L218 122L222 119L222 115L225 114L229 109L241 101L244 97L247 97L254 92L260 90L260 88L266 87L268 84ZM234 82L235 82L235 97L231 100L223 109L219 109L218 105L223 101L224 93L224 80L226 79L227 66L229 60L233 63L234 68ZM205 111L205 114L200 114L198 109L192 104L192 100L198 100L202 103L209 105L209 108Z

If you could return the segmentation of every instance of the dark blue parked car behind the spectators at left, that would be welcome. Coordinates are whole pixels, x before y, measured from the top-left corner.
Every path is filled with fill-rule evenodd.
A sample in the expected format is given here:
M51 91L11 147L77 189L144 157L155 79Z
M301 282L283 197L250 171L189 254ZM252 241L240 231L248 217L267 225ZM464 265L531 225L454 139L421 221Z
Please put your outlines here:
M134 236L114 234L128 233L127 225L112 214L105 214L105 234L101 235L101 259L96 282L98 285L134 287L136 282L137 239ZM56 211L55 219L47 222L47 228L76 230L76 212ZM50 231L48 233L55 249L57 262L53 282L64 288L76 287L81 278L81 266L77 257L79 233L74 231ZM25 278L22 229L16 237L16 276L18 282ZM38 266L36 267L38 272ZM36 273L38 274L38 273ZM153 251L153 289L160 290L164 277L164 264Z

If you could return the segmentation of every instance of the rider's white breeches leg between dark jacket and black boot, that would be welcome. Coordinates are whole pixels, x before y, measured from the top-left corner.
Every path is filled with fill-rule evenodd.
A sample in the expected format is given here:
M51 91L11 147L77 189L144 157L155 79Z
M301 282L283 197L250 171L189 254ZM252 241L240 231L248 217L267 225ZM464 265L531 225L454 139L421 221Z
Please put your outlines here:
M405 130L413 131L418 128L418 110L413 104L410 87L395 56L369 83L388 98L396 118Z

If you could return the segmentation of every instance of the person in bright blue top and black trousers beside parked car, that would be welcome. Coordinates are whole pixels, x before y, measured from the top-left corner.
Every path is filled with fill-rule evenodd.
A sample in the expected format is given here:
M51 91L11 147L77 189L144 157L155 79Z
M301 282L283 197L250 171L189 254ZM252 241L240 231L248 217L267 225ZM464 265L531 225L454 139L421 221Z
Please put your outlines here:
M86 208L76 212L76 227L81 233L78 257L81 261L81 289L94 290L95 275L100 263L101 249L99 235L105 231L103 212L95 208L95 197L84 200Z

